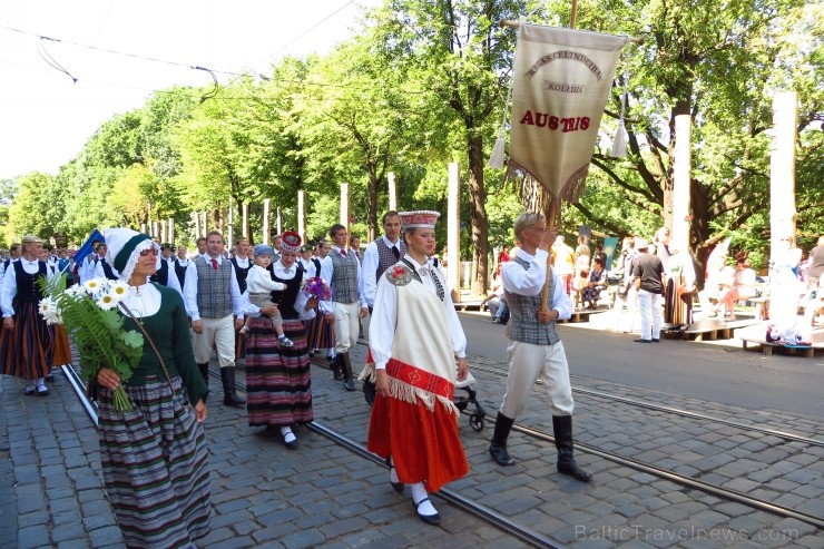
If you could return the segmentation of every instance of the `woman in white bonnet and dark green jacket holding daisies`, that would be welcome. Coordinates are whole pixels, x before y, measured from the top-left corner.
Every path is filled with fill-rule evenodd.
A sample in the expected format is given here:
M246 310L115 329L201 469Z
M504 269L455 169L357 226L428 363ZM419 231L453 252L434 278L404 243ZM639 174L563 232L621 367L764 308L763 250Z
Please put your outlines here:
M208 386L195 362L188 317L174 290L149 283L159 247L128 228L104 232L107 261L129 284L124 330L144 335L144 354L127 382L129 411L115 410L118 374L97 375L104 481L127 547L195 547L209 531L206 437Z

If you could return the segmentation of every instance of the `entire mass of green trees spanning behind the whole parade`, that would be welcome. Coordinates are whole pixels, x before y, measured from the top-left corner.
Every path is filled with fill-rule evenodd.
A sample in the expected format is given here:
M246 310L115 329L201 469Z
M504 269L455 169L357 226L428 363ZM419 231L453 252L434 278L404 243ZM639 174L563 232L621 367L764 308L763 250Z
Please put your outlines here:
M650 236L673 210L675 117L693 120L694 222L698 258L733 236L764 256L768 242L772 101L800 97L796 203L800 242L824 233L824 7L805 0L579 0L578 28L645 37L625 50L594 156L587 190L562 210L563 229ZM462 256L488 275L490 246L511 244L521 180L484 167L504 112L517 32L500 19L569 24L569 2L386 0L361 32L325 57L285 58L265 79L208 90L170 88L102 124L57 176L32 173L19 190L0 188L7 232L81 242L92 228L249 205L257 236L271 198L295 228L296 192L307 195L307 233L339 219L349 183L353 232L371 237L398 178L402 209L445 212L447 166L462 179ZM628 155L608 154L626 89ZM9 188L12 188L9 184ZM235 216L239 219L239 215ZM239 223L239 220L236 222ZM246 227L243 228L246 232ZM239 234L239 233L236 233ZM439 228L439 239L445 224ZM8 243L8 238L7 238Z

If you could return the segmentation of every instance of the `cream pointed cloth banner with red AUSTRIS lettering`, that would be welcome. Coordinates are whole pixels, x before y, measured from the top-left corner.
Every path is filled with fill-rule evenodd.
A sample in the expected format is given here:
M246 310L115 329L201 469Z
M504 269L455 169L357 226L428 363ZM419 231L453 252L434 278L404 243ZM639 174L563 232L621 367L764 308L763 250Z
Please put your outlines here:
M583 192L618 56L628 37L521 23L516 49L510 166L555 197Z

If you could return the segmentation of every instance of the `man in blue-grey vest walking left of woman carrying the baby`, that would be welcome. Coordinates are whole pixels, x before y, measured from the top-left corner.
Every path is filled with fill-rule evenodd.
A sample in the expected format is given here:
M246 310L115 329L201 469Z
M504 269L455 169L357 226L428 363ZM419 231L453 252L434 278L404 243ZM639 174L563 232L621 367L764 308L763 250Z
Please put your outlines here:
M235 331L243 327L241 288L232 263L223 256L223 235L206 235L206 253L186 267L184 303L192 320L195 360L208 383L212 346L217 350L223 403L243 408L246 401L235 389Z

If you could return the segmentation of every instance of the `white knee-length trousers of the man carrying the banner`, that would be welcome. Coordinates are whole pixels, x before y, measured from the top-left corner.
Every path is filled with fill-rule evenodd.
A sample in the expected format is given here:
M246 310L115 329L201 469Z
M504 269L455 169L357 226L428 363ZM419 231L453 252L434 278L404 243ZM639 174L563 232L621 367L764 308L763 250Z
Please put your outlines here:
M507 347L509 355L509 374L507 375L507 394L503 395L500 412L516 419L527 396L532 391L536 380L540 378L549 394L552 415L572 415L572 386L569 384L569 366L563 343L555 345L534 345L512 341Z

